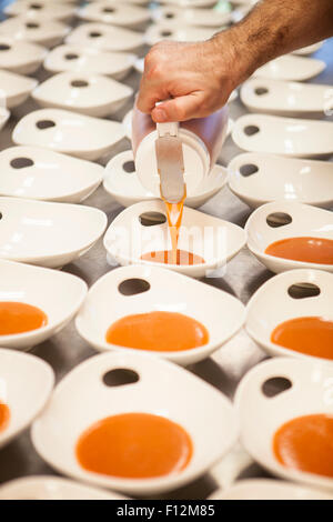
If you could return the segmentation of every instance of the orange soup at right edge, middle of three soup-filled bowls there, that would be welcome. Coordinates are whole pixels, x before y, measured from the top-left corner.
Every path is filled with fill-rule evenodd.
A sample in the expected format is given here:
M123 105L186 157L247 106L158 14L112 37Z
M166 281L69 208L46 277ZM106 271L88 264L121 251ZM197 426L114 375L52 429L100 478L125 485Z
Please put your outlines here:
M333 321L316 317L290 319L273 330L271 341L295 352L333 360Z

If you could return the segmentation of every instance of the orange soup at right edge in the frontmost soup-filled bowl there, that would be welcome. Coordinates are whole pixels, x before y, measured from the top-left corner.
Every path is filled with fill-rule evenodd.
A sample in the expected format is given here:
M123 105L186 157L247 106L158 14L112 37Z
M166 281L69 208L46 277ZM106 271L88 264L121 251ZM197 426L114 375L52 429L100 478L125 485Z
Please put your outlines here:
M273 451L286 468L333 478L333 415L295 418L274 434Z

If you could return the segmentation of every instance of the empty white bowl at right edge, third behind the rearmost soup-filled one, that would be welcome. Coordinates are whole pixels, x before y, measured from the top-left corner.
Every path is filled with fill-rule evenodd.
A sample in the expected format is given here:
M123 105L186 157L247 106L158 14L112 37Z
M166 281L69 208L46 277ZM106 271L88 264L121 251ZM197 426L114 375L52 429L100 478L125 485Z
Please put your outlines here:
M241 100L253 112L321 118L333 110L333 88L252 78L243 83Z

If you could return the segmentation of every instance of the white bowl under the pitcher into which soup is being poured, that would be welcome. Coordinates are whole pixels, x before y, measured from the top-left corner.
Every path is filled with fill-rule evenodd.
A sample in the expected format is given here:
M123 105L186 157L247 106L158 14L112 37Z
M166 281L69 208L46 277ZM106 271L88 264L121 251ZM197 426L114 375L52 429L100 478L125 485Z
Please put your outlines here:
M151 212L158 213L163 222L160 224L158 220L153 225L141 224L140 217ZM120 264L142 263L168 268L193 278L225 268L225 263L244 247L245 241L244 230L236 224L184 207L178 248L201 255L205 262L179 265L144 261L141 259L144 253L171 250L165 205L161 200L143 201L123 210L104 235L108 253Z

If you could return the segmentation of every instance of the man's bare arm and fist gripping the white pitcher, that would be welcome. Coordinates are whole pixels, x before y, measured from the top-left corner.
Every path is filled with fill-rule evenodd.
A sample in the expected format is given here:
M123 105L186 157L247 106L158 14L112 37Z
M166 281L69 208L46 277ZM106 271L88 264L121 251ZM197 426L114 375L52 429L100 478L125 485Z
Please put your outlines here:
M211 40L154 46L145 57L138 107L157 122L205 117L259 67L331 36L333 0L262 0ZM169 101L155 108L161 100Z

